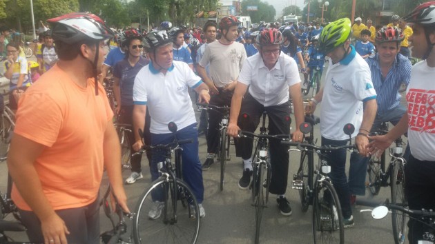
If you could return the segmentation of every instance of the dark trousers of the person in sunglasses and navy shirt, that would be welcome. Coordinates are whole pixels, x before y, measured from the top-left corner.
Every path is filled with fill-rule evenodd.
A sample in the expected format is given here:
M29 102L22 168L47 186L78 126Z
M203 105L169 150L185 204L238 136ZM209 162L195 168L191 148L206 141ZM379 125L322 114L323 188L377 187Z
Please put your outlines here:
M128 125L132 125L132 132L126 133L128 136L128 141L130 141L130 154L134 154L136 151L133 150L133 144L135 143L135 132L133 132L133 105L130 106L122 106L121 108L121 116L119 116L119 121L121 123L125 123ZM145 117L145 128L144 128L144 142L145 145L150 145L150 116L148 114L148 110L146 110L146 117ZM151 161L151 151L146 151L146 157L148 158L148 162ZM140 162L142 160L142 154L131 156L130 163L131 163L131 171L140 173L141 165Z

